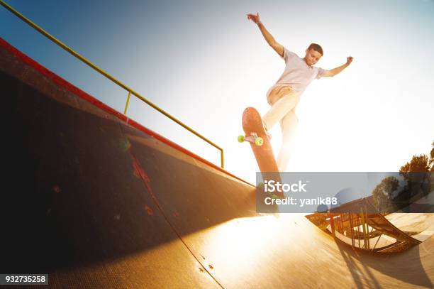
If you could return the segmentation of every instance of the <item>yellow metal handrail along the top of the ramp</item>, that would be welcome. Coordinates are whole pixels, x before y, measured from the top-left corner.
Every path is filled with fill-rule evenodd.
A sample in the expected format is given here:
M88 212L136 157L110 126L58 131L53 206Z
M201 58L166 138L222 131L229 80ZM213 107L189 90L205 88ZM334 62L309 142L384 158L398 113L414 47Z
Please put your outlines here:
M208 140L208 138L205 138L200 133L194 131L194 129L191 129L189 126L187 126L186 124L182 123L181 121L179 121L178 119L176 119L174 116L168 114L163 109L160 109L160 107L157 107L157 105L153 104L148 99L145 99L145 97L142 97L140 94L138 94L137 92L135 92L133 89L130 89L130 87L126 86L126 84L123 84L119 80L116 80L116 78L114 78L111 75L109 75L109 73L105 72L104 70L101 70L101 68L97 67L92 62L90 62L89 60L87 60L86 58L84 58L82 55L79 55L79 53L76 53L74 50L72 50L71 48L69 48L67 45L65 45L65 43L62 43L60 40L57 40L57 38L55 38L54 36L52 36L47 31L43 30L43 28L40 28L38 25L36 25L32 21L30 21L29 18L27 18L26 16L23 16L23 14L19 13L15 9L13 9L4 0L0 0L0 4L2 6L4 6L6 9L8 9L9 11L11 11L13 14L15 14L18 18L21 18L22 21L26 22L28 25L30 25L33 28L35 28L35 30L38 31L39 33L43 34L43 36L45 36L48 39L52 40L52 42L54 42L57 45L59 45L61 48L63 48L64 50L66 50L68 53L72 54L75 58L78 58L79 60L82 60L82 62L86 63L87 65L89 65L90 67L92 67L94 70L96 70L97 72L101 73L101 75L104 75L105 77L107 77L112 82L118 84L123 89L126 89L126 91L128 92L128 99L127 99L127 102L126 102L126 107L125 107L124 114L126 114L126 111L127 111L127 108L128 108L128 103L130 101L130 94L133 94L135 97L137 97L141 101L145 102L146 104L148 104L153 109L156 109L161 114L164 114L169 119L172 119L172 121L176 122L177 124L179 124L180 126L182 126L184 129L187 129L191 133L194 133L196 136L199 136L199 138L201 138L204 141L206 141L207 143L211 144L211 146L217 148L220 151L221 168L224 168L223 148L221 148L220 146L217 146L215 143L213 143L212 141Z

